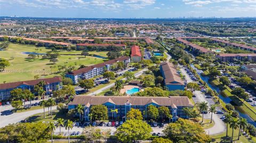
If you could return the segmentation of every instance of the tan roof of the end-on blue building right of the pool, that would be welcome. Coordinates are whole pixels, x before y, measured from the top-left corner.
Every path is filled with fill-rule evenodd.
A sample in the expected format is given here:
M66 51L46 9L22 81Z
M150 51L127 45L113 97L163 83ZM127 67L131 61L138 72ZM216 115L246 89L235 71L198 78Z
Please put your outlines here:
M181 80L180 75L177 73L172 63L162 62L160 66L162 66L164 72L165 85L184 85L184 82Z

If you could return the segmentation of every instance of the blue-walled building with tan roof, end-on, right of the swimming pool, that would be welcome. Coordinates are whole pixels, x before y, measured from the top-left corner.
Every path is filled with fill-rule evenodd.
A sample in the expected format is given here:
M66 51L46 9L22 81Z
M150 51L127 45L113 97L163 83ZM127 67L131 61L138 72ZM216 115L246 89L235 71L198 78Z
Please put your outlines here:
M177 70L172 63L160 63L160 71L164 78L164 85L169 90L184 90L185 84L181 80L179 73L177 73Z

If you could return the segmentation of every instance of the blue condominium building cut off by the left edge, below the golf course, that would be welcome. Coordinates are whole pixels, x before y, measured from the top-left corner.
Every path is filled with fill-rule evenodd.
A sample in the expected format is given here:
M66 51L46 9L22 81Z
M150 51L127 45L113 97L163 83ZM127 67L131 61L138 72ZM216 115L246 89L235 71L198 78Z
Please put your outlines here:
M62 89L61 77L2 83L0 84L0 100L10 98L11 91L16 88L20 88L22 90L28 89L31 92L34 92L35 85L37 85L40 81L44 81L46 84L43 87L44 91L46 91L46 95L51 94L54 90Z

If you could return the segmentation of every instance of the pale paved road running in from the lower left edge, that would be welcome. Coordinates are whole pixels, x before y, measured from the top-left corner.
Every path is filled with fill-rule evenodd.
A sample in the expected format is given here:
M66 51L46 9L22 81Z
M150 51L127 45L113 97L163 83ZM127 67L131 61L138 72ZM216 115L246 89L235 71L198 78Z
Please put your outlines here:
M56 109L57 109L57 106L52 106L52 110L56 110ZM46 108L45 108L45 111L47 112ZM20 112L20 113L11 113L11 114L5 114L5 115L1 114L0 128L5 127L8 124L18 123L29 116L32 116L38 113L43 113L43 112L44 112L43 109L39 109L39 110L32 110L32 111L26 111L26 112Z

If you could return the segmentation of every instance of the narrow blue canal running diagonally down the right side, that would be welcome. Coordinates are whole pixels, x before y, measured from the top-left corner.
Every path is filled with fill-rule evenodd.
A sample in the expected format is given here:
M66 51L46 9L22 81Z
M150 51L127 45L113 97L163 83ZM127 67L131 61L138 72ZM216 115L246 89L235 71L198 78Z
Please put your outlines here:
M194 64L190 64L191 68L193 68L194 70L197 71L197 73L199 74L199 76L201 77L201 79L207 83L207 85L212 89L212 90L216 90L218 93L220 93L220 89L218 87L215 87L215 86L212 86L210 83L209 83L209 77L205 77L203 76L201 73L203 72L202 70L198 70ZM229 97L225 97L225 96L222 96L221 94L219 94L219 98L221 100L223 100L223 102L225 102L226 104L230 103L231 102L231 99ZM235 111L237 111L239 113L239 115L243 118L245 118L247 120L248 123L254 125L254 127L256 127L256 122L253 121L251 119L251 117L247 114L245 114L241 108L239 108L238 106L235 106Z

